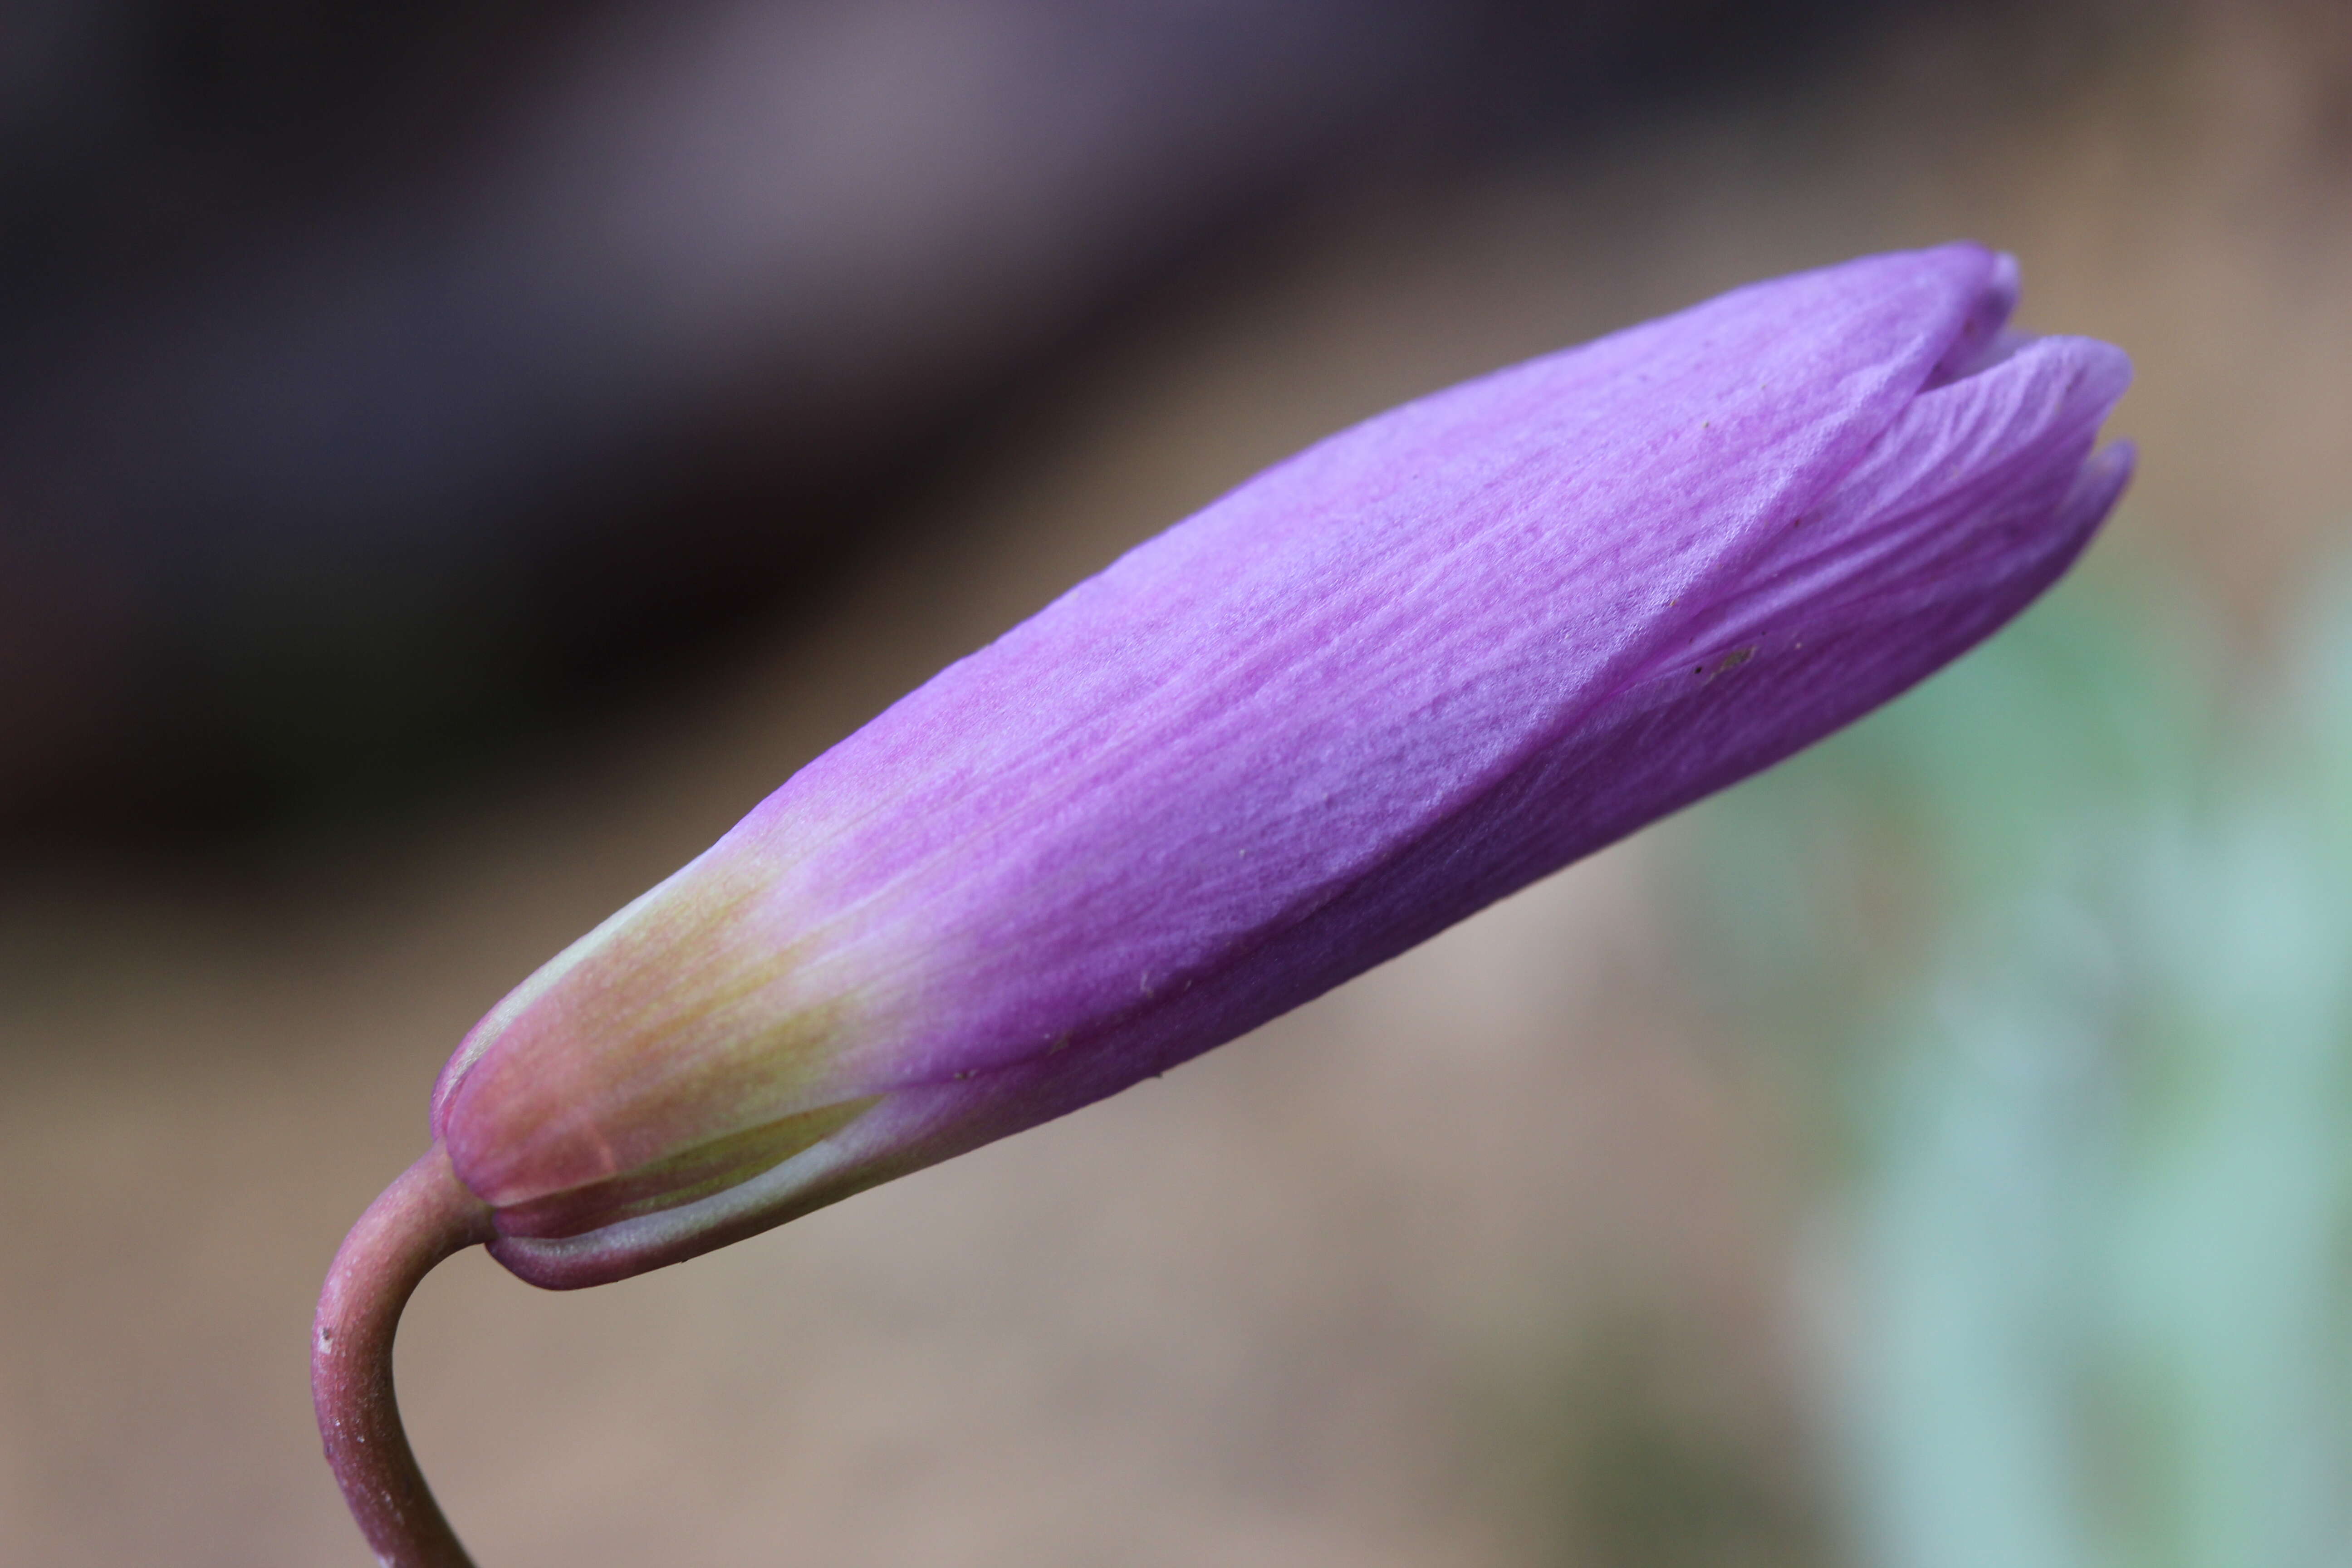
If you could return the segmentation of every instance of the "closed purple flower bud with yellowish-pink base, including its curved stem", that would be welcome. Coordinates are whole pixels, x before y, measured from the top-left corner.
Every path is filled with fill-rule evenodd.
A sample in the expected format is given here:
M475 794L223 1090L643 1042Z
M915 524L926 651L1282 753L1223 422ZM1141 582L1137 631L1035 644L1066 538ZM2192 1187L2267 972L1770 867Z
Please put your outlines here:
M388 1347L454 1246L600 1284L1117 1093L1896 696L2129 475L2124 355L2013 301L1971 244L1755 284L1136 548L501 1001L322 1331Z

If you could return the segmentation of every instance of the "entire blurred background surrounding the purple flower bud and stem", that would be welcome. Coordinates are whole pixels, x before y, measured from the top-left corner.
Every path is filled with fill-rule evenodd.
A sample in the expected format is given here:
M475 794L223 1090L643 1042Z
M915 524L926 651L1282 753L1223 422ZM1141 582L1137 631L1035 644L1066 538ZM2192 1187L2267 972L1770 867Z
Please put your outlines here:
M515 980L1392 402L1870 249L2086 567L1251 1041L442 1267L485 1568L2352 1561L2352 12L0 2L0 1561L360 1563L306 1328Z

